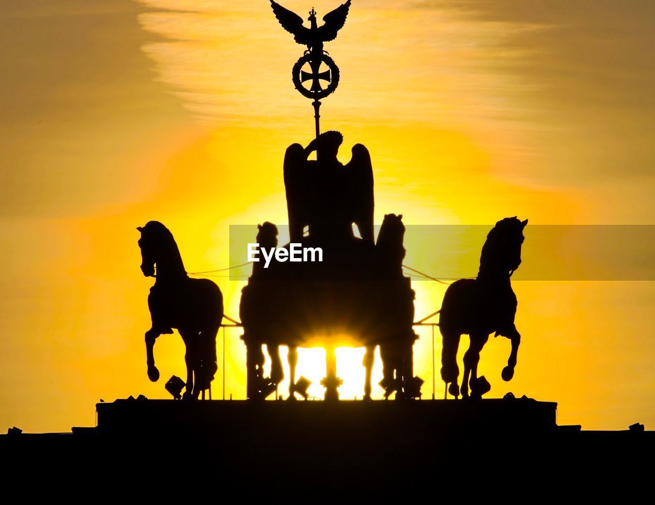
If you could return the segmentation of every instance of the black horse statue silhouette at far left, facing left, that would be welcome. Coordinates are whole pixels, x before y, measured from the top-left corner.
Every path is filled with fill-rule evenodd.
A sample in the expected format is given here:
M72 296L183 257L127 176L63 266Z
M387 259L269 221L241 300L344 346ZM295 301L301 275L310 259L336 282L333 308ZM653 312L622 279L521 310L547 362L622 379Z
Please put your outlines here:
M216 334L223 319L223 294L209 279L187 275L178 245L166 226L150 221L137 230L141 232L141 272L156 279L148 296L152 327L145 332L148 377L153 382L159 380L153 354L155 340L178 329L186 346L183 399L196 399L210 388L217 370Z

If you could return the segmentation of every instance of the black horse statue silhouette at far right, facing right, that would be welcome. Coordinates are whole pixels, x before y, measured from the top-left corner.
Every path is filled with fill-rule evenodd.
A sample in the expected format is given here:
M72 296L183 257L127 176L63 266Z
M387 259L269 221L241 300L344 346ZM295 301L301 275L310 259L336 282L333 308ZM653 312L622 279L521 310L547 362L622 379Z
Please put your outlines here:
M480 351L493 332L495 336L506 336L512 342L512 352L502 370L502 378L508 381L514 376L521 335L514 325L517 300L510 277L521 264L523 228L527 223L527 219L520 221L515 216L498 221L482 247L476 279L455 281L443 296L439 318L443 337L441 378L448 392L455 397L460 392L457 348L462 334L470 336L470 345L464 354L462 397L469 397L469 386L474 398L481 398L491 389L484 376L477 377L477 363Z

